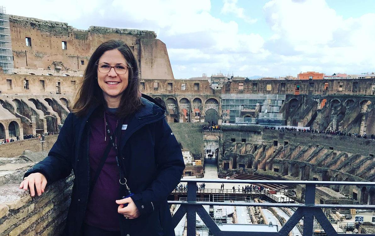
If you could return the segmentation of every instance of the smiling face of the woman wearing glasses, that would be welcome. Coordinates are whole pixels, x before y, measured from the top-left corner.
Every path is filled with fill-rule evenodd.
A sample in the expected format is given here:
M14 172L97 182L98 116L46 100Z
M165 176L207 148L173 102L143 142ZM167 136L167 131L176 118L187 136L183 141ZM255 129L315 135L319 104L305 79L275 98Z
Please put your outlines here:
M116 70L126 70L125 74L117 74L114 68L108 73L102 73L109 67L115 67ZM129 68L126 68L127 63L124 56L117 49L109 50L99 58L98 62L98 84L103 91L104 99L108 102L120 102L122 93L127 88L129 79ZM118 72L117 71L117 72Z

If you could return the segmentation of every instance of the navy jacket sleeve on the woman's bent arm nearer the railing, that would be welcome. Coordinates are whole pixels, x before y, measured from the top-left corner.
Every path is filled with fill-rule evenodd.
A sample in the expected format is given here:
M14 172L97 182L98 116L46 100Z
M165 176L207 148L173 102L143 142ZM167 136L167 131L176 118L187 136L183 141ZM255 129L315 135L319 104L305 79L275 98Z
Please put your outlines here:
M159 208L180 183L185 168L180 145L166 120L160 120L155 126L157 176L146 190L132 196L141 215L149 214Z

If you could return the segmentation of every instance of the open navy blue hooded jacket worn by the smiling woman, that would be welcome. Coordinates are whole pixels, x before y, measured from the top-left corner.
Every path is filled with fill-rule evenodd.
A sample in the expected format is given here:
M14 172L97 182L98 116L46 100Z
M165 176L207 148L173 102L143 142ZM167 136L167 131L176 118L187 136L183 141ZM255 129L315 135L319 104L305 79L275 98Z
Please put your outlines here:
M142 95L141 99L143 106L130 117L118 146L123 155L120 161L126 165L127 185L135 193L132 199L141 216L127 220L119 214L121 235L174 236L166 197L180 182L185 165L165 120L165 108L149 96ZM51 184L74 171L65 235L81 235L90 181L88 122L94 110L84 117L70 113L48 156L25 174L40 172Z

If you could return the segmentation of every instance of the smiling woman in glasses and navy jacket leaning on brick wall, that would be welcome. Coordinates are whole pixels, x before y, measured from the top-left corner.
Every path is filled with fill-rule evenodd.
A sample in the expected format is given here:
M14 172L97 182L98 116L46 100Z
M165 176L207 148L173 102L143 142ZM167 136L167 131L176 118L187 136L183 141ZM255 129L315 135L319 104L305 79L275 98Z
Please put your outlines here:
M138 90L138 66L120 40L91 56L77 101L48 156L20 188L75 179L64 235L174 235L166 197L180 182L181 149L165 108Z

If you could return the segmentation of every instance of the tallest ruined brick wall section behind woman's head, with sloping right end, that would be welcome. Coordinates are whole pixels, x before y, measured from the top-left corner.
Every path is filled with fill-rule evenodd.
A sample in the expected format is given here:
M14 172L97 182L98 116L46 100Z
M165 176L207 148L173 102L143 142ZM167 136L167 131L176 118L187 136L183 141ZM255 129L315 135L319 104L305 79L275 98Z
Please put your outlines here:
M91 26L77 30L67 23L10 15L16 73L81 75L94 50L110 39L127 43L143 78L174 79L166 46L154 31ZM31 39L31 46L25 38ZM62 46L66 42L66 48ZM31 69L31 70L30 70Z

